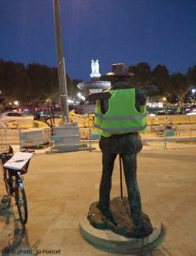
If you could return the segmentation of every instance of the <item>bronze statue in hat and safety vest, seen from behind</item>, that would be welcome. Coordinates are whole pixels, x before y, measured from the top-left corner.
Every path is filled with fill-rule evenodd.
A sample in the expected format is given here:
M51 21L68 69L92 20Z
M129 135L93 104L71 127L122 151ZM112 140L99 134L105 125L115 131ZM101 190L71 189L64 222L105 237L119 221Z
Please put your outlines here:
M146 127L146 96L130 85L129 79L132 75L124 63L113 64L112 72L106 74L111 80L111 88L91 94L87 96L87 100L97 101L95 131L101 134L99 146L102 152L102 176L96 207L107 219L112 230L121 234L122 232L118 232L118 219L114 218L110 208L112 172L114 160L119 154L123 161L127 187L126 203L130 207L132 219L132 230L125 232L124 236L142 237L153 232L149 218L141 211L141 195L136 181L136 154L142 148L139 131ZM88 216L90 223L98 228L106 228L103 225L99 226L93 220L94 214L90 211Z

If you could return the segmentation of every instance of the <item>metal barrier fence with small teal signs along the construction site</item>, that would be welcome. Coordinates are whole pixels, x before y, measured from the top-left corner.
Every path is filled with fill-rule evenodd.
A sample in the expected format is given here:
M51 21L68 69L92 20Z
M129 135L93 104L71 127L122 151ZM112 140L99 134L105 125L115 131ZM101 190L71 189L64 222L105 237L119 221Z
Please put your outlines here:
M196 125L150 125L147 131L141 133L144 145L159 148L170 148L175 145L183 146L185 143L196 145ZM95 148L99 136L94 134L92 126L79 127L79 143L89 150ZM184 144L183 144L184 143ZM9 145L18 148L35 148L40 145L51 145L51 129L1 129L0 148Z

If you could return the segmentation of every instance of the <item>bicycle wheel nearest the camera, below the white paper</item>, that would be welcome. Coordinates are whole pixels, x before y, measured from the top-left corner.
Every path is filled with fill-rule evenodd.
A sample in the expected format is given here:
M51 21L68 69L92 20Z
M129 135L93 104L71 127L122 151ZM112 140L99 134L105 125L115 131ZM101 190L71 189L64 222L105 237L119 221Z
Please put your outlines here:
M23 186L23 182L17 181L15 188L15 202L18 208L19 217L21 224L26 224L27 222L27 202L26 202L26 192Z

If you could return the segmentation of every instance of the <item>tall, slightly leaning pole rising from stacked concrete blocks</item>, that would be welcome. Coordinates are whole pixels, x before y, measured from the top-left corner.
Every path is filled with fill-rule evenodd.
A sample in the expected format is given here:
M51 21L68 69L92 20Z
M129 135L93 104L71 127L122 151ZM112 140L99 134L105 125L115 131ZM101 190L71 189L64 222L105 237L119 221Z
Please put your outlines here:
M69 122L69 110L67 104L67 89L66 89L66 65L63 57L61 43L61 26L60 26L60 9L59 0L53 0L54 19L55 19L55 43L58 60L58 78L61 102L61 119L62 122Z

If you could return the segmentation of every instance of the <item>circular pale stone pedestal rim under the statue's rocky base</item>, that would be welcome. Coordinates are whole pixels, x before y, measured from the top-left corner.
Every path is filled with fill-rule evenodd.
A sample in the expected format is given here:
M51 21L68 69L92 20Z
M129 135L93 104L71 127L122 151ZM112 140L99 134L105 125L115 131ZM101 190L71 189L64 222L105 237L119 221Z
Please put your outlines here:
M156 241L162 230L162 224L153 228L153 233L143 238L128 238L113 233L111 230L97 230L85 217L80 220L80 230L84 238L95 247L110 253L130 253L141 247L146 247Z

